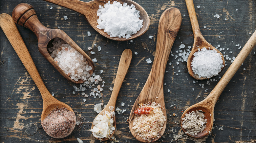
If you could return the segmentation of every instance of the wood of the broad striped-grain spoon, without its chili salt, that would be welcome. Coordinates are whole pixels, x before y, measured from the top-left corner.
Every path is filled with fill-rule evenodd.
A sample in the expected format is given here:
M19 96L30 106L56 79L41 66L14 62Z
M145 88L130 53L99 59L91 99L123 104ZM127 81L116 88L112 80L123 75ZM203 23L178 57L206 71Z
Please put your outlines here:
M160 103L164 116L166 117L166 110L163 97L163 78L165 73L165 67L168 57L171 52L173 42L177 36L177 33L181 26L181 13L177 8L166 9L159 20L158 33L157 33L157 46L155 59L152 65L152 69L149 73L148 79L141 90L138 98L136 99L132 111L129 117L129 128L132 135L140 142L148 142L132 129L134 113L139 108L140 103L156 102ZM159 137L150 140L154 142L158 140L164 133L166 128L166 121L164 122L163 129L159 133Z

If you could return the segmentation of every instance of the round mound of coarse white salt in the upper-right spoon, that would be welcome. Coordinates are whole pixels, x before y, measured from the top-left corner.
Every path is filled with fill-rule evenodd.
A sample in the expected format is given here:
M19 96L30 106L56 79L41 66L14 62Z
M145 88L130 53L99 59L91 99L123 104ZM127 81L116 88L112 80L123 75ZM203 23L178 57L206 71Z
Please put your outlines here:
M224 67L221 54L216 50L209 50L205 47L194 53L191 66L195 74L206 78L218 75L221 68Z

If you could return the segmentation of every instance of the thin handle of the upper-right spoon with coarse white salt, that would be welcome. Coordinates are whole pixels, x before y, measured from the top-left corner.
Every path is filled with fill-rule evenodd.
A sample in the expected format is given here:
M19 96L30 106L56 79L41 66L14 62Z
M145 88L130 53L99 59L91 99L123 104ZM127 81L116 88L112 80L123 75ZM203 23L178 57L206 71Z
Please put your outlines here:
M193 0L185 0L187 5L187 11L189 14L190 22L192 25L192 30L194 34L194 39L196 39L197 36L202 35L199 29L199 24L197 21L197 15L194 7Z

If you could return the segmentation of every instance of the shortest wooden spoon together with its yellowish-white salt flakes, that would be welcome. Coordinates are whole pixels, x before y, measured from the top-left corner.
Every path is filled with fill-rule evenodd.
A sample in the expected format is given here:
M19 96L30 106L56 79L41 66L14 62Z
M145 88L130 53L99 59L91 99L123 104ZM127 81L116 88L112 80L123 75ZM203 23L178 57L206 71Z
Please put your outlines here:
M128 71L132 60L132 51L130 49L125 49L121 55L117 76L115 79L113 91L109 102L106 107L96 116L92 124L92 134L94 137L100 141L105 141L111 138L116 130L116 116L115 107L117 96L122 86L124 77Z

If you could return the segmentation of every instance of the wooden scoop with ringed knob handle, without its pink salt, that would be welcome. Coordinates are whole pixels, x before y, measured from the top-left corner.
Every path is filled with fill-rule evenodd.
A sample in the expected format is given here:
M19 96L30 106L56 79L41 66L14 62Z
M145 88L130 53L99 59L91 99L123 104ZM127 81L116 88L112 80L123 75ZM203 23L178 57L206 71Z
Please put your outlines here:
M53 65L53 67L58 70L67 80L73 83L83 83L85 81L79 79L75 81L71 79L64 71L58 66L58 64L53 60L50 55L48 48L52 47L54 38L58 37L66 41L71 45L76 51L82 54L88 65L92 67L90 70L90 75L94 72L94 64L91 58L62 30L60 29L50 29L41 24L36 16L34 8L30 4L19 4L12 11L12 18L16 24L20 24L26 28L29 28L34 32L38 40L39 52ZM89 78L89 77L88 77Z

